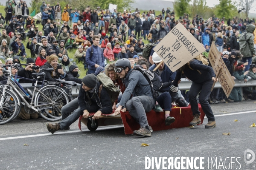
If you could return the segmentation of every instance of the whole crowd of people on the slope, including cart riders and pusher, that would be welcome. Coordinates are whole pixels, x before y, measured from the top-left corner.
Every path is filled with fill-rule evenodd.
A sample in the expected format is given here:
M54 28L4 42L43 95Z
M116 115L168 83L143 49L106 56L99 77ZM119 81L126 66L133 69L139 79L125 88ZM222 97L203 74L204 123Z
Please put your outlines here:
M233 17L226 25L225 18L213 16L204 20L196 15L190 20L188 14L177 17L175 11L170 11L169 8L163 9L159 15L154 10L141 12L137 8L134 12L130 9L122 12L115 9L110 13L108 9L100 7L92 9L88 6L84 10L78 10L67 4L62 9L59 3L51 6L43 2L40 7L43 28L39 30L35 19L29 16L25 1L7 1L5 11L6 17L0 14L0 59L5 60L5 64L20 61L28 64L26 68L12 68L13 77L18 74L20 77L33 79L33 72L40 72L41 68L54 68L53 71L46 71L47 81L64 79L81 84L79 97L62 108L62 121L57 124L47 123L51 133L69 129L80 115L87 118L89 112L95 112L93 119L99 119L101 114L109 114L115 110L115 115L120 111L129 111L140 124L141 128L134 131L135 135L151 136L153 130L148 125L145 113L151 109L164 111L165 124L170 125L175 121L170 116L172 102L180 107L187 106L189 102L194 115L190 125L197 125L201 122L196 98L200 91L199 102L208 118L205 127L212 128L216 123L209 103L238 102L243 97L245 100L256 99L253 87L243 88L243 93L241 88L233 88L228 98L222 89L211 92L212 84L217 79L211 66L201 64L198 59L190 61L190 66L184 65L172 72L154 53L155 45L152 45L150 54L145 56L145 40L157 44L181 23L206 48L202 55L208 57L210 45L214 42L232 77L246 83L249 81L248 76L256 79L254 19ZM23 40L28 40L26 47ZM27 57L25 48L30 50L31 57ZM68 51L72 50L75 53L71 57ZM79 78L77 63L82 63L87 70L87 75L83 78ZM33 65L40 69L33 70ZM157 90L159 95L154 97L148 86L149 82L140 71L134 69L152 71L158 65L160 66L156 72L161 77L163 86ZM6 77L2 70L1 68L0 79L4 83ZM198 74L196 70L200 70L202 74ZM106 89L100 88L100 82L96 78L100 73L105 73L122 92L113 103ZM182 76L193 82L193 90L178 90ZM28 80L19 81L29 83ZM98 93L101 95L92 98ZM73 114L69 116L70 112ZM23 113L20 118L29 119L30 115Z

